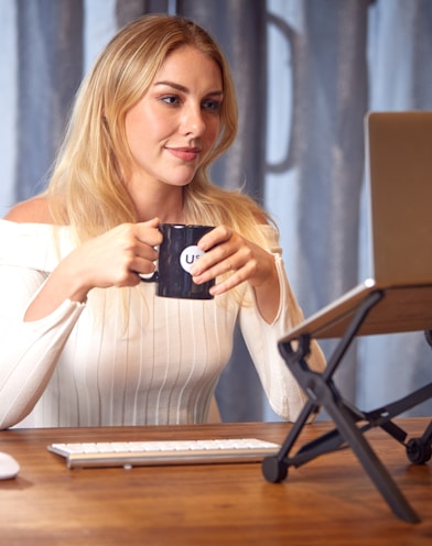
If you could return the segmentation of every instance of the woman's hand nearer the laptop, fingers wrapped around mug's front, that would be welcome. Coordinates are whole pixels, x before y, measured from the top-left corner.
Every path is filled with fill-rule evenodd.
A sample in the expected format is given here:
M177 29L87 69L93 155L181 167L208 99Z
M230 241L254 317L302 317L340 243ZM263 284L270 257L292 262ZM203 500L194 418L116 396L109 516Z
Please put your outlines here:
M274 256L226 226L206 233L198 242L205 254L191 269L196 284L230 273L212 288L213 295L224 294L248 281L253 288L278 285Z

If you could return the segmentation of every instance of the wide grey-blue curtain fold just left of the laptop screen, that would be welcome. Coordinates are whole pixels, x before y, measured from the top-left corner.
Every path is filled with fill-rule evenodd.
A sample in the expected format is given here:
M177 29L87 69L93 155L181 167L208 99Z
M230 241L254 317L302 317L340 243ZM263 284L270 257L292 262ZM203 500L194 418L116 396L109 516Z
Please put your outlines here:
M367 2L304 3L304 34L294 41L293 142L299 189L296 294L318 310L358 282L358 223L368 108ZM326 17L327 12L332 17ZM348 258L348 259L347 259ZM313 264L311 266L311 264ZM334 341L323 341L330 353ZM335 374L356 395L355 343Z

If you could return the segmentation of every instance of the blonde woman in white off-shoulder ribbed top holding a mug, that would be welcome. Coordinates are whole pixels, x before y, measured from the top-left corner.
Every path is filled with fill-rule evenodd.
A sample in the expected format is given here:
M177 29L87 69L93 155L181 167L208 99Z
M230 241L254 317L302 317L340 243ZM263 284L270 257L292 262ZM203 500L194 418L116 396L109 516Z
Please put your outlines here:
M83 83L47 190L0 221L0 426L208 419L236 321L270 404L304 396L277 341L303 317L268 216L214 186L235 139L227 63L191 21L141 18ZM215 226L191 270L214 299L154 295L160 222ZM322 370L317 346L311 365Z

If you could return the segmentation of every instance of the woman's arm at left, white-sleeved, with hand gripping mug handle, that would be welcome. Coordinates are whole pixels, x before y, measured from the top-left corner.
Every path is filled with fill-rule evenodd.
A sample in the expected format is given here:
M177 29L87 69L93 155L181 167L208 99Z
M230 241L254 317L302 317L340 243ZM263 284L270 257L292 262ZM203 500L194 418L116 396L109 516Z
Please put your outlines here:
M139 284L134 271L153 270L161 238L154 219L65 251L63 239L54 242L54 229L36 221L34 207L25 209L18 206L0 226L0 428L20 422L37 402L87 293Z

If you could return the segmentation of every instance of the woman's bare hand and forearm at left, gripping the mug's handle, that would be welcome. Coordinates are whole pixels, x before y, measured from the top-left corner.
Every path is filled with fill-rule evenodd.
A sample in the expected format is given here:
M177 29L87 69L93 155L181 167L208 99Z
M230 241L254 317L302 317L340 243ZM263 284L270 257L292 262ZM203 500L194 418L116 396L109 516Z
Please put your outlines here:
M85 302L91 288L134 286L138 273L154 271L155 247L162 242L159 219L122 223L90 239L68 254L32 301L25 320L47 316L65 299Z

